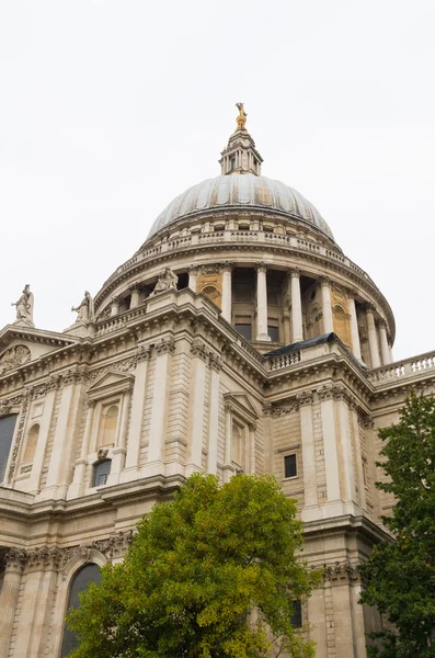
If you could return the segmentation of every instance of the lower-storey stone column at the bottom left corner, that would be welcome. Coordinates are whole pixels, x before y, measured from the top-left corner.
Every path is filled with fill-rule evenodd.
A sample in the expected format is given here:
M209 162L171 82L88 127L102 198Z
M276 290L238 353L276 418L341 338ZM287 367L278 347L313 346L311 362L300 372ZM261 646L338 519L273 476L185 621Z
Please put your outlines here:
M11 548L5 556L5 571L0 591L0 658L8 658L21 575L26 561L26 552Z

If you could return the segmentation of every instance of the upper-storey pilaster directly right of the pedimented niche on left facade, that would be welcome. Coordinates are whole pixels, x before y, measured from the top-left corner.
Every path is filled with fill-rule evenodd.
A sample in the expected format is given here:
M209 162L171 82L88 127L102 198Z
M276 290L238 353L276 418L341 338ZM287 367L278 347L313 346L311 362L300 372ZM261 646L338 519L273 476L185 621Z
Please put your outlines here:
M136 352L137 364L135 384L133 387L130 428L128 432L125 467L119 481L129 481L137 477L140 455L140 438L142 430L145 394L147 388L147 372L151 354L150 345L139 345Z

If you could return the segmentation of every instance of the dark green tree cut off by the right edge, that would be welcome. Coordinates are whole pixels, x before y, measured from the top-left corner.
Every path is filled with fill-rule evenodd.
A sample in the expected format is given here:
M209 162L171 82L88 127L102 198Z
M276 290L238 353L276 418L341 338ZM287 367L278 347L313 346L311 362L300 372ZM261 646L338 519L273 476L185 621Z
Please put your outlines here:
M376 658L435 656L435 400L411 395L398 424L380 430L382 466L396 507L384 518L396 542L382 542L363 567L362 602L376 605L396 631L373 634Z

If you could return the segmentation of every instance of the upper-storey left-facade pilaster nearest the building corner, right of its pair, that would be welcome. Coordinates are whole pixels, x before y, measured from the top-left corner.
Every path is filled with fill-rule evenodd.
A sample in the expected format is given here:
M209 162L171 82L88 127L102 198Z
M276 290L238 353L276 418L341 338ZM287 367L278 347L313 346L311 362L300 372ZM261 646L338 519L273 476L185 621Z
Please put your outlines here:
M149 429L146 475L164 474L164 442L167 439L168 401L171 386L172 354L175 341L163 338L156 344L154 395Z

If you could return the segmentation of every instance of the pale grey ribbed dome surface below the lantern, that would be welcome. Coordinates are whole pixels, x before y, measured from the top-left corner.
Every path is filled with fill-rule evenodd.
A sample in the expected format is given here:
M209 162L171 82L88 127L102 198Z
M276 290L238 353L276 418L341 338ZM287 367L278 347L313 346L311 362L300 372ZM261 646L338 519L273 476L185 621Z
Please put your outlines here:
M289 218L301 219L334 239L319 211L299 192L281 181L255 173L218 175L188 188L160 213L148 237L196 213L228 208L274 211Z

